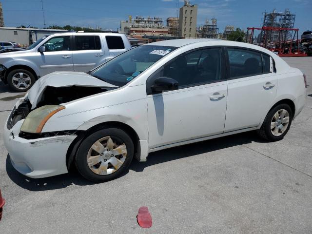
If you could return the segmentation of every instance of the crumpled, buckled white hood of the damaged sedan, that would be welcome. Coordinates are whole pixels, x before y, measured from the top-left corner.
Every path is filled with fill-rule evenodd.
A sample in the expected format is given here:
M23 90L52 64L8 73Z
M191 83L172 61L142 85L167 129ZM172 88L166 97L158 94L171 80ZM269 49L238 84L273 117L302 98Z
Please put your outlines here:
M36 107L38 99L47 86L70 87L87 86L102 88L119 88L98 78L90 76L84 72L53 72L39 78L27 93L27 98L32 104L32 109Z

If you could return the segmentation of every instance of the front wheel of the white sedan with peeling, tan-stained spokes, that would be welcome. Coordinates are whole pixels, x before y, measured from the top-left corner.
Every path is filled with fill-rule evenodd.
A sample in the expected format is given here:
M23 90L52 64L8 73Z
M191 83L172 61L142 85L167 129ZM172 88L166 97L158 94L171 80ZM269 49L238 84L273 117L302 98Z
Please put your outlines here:
M78 148L78 172L93 182L111 180L123 173L134 155L134 144L119 128L99 130L86 137Z

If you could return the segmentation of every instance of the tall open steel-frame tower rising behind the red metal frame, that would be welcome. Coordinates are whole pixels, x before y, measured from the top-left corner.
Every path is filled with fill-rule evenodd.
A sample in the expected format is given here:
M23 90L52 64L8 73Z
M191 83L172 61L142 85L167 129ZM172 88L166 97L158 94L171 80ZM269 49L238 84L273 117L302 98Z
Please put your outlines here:
M271 13L264 13L263 26L273 27L273 28L293 28L294 20L296 15L292 14L288 8L284 12L276 12L275 9ZM289 40L292 38L293 30L280 30L280 31L266 31L261 30L261 33L258 36L258 42L266 39L266 43L276 42L280 38L284 40ZM269 35L266 35L269 33Z

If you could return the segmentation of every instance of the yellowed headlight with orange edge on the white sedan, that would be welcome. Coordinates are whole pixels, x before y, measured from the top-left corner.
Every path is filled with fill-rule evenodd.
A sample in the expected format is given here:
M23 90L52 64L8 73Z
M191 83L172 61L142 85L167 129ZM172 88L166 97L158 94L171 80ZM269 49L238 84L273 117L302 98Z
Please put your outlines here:
M54 114L65 109L61 105L46 105L30 112L21 125L20 131L25 133L41 133L44 124Z

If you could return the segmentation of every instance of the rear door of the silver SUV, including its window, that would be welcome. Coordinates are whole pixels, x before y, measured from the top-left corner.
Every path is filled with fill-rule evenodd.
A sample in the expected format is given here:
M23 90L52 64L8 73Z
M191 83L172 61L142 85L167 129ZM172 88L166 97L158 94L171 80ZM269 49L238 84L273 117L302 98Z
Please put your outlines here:
M88 72L101 62L105 61L99 35L74 36L73 51L74 70Z

